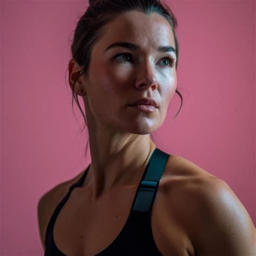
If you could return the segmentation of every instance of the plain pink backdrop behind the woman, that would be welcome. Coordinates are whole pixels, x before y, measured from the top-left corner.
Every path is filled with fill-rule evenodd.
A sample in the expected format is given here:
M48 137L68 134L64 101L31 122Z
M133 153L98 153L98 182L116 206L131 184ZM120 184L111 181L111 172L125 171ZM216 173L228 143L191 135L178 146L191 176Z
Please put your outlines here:
M156 144L225 180L255 225L255 2L166 2L179 23L184 105L171 121L176 93ZM87 1L1 2L1 255L43 255L39 198L89 164L68 73L65 82L69 39L86 8Z

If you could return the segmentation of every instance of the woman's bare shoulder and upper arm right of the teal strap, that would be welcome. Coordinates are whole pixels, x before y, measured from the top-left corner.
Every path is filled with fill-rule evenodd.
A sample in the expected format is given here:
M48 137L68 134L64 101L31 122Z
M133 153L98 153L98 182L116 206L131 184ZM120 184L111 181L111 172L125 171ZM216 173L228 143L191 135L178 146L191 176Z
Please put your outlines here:
M169 161L161 186L165 211L197 255L253 255L255 227L230 186L185 158Z

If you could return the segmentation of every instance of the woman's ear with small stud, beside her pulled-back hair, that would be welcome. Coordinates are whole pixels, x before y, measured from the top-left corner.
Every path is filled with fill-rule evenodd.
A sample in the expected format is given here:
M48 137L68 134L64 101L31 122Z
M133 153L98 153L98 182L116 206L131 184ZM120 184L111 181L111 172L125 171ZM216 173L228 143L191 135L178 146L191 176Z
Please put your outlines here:
M73 90L73 84L74 84L76 78L80 75L81 70L82 70L82 68L79 66L79 64L76 62L75 59L71 59L69 61L69 86L70 86L71 90ZM85 91L85 87L83 85L82 77L83 76L81 76L77 79L75 88L74 88L74 93L76 93L76 95L85 96L86 91Z

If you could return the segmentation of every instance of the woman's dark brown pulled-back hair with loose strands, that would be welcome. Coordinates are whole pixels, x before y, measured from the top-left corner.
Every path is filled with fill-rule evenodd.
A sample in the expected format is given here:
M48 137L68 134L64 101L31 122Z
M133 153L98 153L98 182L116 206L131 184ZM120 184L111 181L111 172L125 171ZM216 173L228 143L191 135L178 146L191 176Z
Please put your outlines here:
M71 44L71 53L72 58L76 60L78 65L82 68L80 75L75 79L73 83L72 89L72 110L73 110L73 99L75 98L76 103L78 105L79 110L81 111L85 125L86 117L83 113L83 110L80 107L78 97L76 93L74 93L75 83L77 79L83 75L87 76L87 71L89 70L90 60L91 60L91 52L93 45L99 40L103 33L103 26L107 23L111 22L117 16L124 14L124 12L139 10L142 11L146 15L150 15L153 12L163 16L169 22L176 46L177 52L177 61L176 61L176 70L178 67L178 59L179 59L179 43L176 34L176 28L178 26L178 22L176 17L173 15L173 12L165 3L161 4L160 1L157 0L90 0L90 6L87 8L85 13L79 17L79 21L77 23L75 33L73 36L72 44ZM180 92L176 89L176 92L181 98L181 106L183 105L183 97ZM181 109L180 106L180 109ZM179 111L180 111L179 109ZM178 111L178 113L179 113ZM176 116L178 115L176 114ZM174 118L176 118L174 116ZM82 131L83 131L82 130ZM152 134L150 134L151 139ZM86 144L85 156L88 147L88 141ZM153 140L154 141L154 140Z

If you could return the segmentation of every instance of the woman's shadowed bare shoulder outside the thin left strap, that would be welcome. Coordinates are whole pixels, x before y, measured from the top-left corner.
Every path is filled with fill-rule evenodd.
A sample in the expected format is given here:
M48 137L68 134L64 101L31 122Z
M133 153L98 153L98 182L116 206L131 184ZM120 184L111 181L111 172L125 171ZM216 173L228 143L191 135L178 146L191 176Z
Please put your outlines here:
M51 215L53 211L59 204L59 202L65 197L69 192L69 187L76 183L79 178L83 175L84 171L80 172L76 177L69 180L63 181L50 188L43 196L39 199L37 204L37 221L38 228L40 232L41 242L45 249L45 235L46 228L49 224Z

